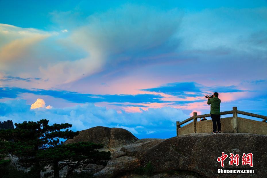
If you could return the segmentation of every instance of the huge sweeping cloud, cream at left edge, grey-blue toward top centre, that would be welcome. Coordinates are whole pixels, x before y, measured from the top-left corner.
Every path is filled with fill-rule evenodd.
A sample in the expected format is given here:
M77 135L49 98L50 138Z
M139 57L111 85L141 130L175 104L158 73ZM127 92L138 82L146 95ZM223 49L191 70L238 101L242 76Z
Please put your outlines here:
M168 42L177 32L181 17L177 9L124 5L90 15L71 33L61 30L68 34L0 24L0 37L4 39L0 42L0 66L14 76L45 79L38 81L42 85L32 84L33 88L66 84L104 70L113 61L117 63L121 58L116 55L126 55L124 59L128 60L134 53L151 51ZM54 49L55 45L59 46ZM70 51L64 51L65 46L82 47L87 56L76 57L77 53L73 53L68 55L70 59L60 59L62 53ZM63 52L59 54L57 49Z

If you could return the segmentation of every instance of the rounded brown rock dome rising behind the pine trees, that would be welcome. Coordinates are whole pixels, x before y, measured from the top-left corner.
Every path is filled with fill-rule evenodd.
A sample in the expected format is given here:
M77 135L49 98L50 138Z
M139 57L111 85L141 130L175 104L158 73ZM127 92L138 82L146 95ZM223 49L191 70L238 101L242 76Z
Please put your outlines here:
M93 142L104 145L104 148L111 149L132 144L137 140L139 139L126 129L98 126L80 131L78 136L67 140L64 144Z

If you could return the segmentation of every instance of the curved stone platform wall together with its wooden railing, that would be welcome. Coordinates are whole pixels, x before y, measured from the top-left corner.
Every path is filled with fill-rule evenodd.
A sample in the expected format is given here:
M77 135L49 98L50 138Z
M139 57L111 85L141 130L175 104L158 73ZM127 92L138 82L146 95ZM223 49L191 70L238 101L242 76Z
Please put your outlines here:
M247 113L244 111L238 111L237 107L233 107L233 111L223 111L221 115L233 114L232 117L221 118L221 131L222 133L249 133L267 135L267 116L258 115L254 113ZM247 115L251 117L257 117L263 119L262 121L255 121L251 119L245 119L238 117L237 114ZM191 133L210 133L212 131L212 120L197 121L198 118L210 117L210 114L194 115L182 122L176 122L177 136ZM181 127L181 125L193 120Z

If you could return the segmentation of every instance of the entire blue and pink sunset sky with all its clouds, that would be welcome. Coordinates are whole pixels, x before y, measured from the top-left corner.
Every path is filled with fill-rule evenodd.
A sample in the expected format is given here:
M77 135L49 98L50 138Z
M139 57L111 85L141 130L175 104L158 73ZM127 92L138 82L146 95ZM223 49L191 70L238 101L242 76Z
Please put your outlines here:
M267 1L0 0L0 121L170 138L213 92L267 115Z

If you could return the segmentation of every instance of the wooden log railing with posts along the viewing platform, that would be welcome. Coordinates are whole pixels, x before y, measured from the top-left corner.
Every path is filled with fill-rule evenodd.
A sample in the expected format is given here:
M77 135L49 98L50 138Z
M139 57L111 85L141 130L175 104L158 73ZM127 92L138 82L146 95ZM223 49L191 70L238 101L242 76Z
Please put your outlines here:
M233 128L234 128L234 133L237 133L237 114L242 114L242 115L247 115L247 116L252 116L252 117L258 117L263 119L262 122L266 122L267 120L267 116L264 115L259 115L259 114L254 114L254 113L248 113L245 111L238 111L237 107L233 107L232 111L223 111L220 112L220 115L226 115L226 114L233 114ZM203 114L203 115L198 115L198 113L194 113L194 115L192 117L189 117L188 119L185 119L182 122L177 121L176 122L176 131L177 131L177 135L178 135L178 129L181 128L181 125L194 120L194 133L196 133L196 122L198 118L202 118L202 117L210 117L210 114Z

